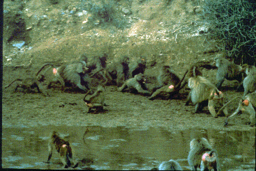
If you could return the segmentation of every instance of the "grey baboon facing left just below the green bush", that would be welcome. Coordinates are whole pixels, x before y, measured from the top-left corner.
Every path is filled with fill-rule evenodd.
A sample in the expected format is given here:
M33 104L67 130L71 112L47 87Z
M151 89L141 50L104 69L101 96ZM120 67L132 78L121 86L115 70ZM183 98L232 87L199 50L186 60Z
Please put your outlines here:
M237 80L239 83L243 80L242 67L240 65L236 65L229 60L218 56L214 58L216 67L218 67L218 71L216 74L216 79L218 81L216 87L220 88L224 79L227 80Z

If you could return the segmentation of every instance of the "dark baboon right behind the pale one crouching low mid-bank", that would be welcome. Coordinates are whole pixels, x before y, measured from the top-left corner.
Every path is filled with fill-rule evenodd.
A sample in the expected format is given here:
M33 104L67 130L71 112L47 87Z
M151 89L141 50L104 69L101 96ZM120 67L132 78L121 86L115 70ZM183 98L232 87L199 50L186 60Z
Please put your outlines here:
M129 79L134 78L136 74L144 74L146 69L147 59L145 56L141 56L137 60L129 63Z

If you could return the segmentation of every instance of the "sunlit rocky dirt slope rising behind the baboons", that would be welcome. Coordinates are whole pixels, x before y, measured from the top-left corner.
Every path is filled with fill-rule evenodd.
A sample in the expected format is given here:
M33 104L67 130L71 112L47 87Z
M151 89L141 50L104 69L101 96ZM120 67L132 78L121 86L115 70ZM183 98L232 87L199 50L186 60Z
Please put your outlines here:
M203 1L4 1L3 66L38 67L104 52L147 56L148 68L171 65L182 73L192 61L213 58L205 40ZM175 69L176 68L176 69Z

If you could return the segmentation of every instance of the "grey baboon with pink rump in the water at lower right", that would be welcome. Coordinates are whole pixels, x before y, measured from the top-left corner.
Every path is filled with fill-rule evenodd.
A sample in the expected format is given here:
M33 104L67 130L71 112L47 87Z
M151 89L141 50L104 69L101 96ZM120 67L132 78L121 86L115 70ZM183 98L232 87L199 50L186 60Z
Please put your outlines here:
M219 170L217 152L205 138L191 140L188 162L192 170Z

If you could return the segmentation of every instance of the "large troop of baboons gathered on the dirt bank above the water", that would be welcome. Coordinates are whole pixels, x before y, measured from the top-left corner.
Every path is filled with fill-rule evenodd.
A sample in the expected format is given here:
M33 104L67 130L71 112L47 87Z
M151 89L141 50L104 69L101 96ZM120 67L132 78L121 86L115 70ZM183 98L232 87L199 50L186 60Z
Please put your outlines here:
M90 59L88 61L88 59ZM202 111L204 106L208 106L212 116L227 116L227 119L237 115L239 111L250 115L250 125L255 125L255 107L256 107L256 67L254 65L236 65L223 56L214 58L214 62L200 61L192 64L184 73L182 79L171 70L170 66L163 65L157 76L158 85L152 90L148 90L146 86L146 70L147 60L144 56L136 60L130 60L128 56L122 56L119 60L106 63L107 54L88 58L86 54L82 54L79 60L65 63L59 67L47 63L33 77L27 79L16 79L17 88L31 89L37 88L38 92L43 95L49 95L47 88L51 88L52 83L60 83L61 89L65 90L66 86L77 87L86 92L83 101L88 106L88 113L99 113L104 111L104 106L108 106L104 102L104 86L116 85L120 92L125 90L136 90L141 95L148 96L148 99L155 99L161 95L168 95L172 98L179 94L188 85L190 92L186 100L186 106L190 101L195 105L194 113ZM208 79L202 76L202 68L211 69L218 68L216 86ZM104 83L98 84L96 90L92 90L91 79L99 74L102 76ZM237 90L244 88L243 97L239 101L237 110L230 116L227 113L227 104L224 104L223 92L218 90L223 81L237 80L239 87ZM14 83L13 81L12 83ZM7 87L9 87L10 83ZM249 93L249 94L248 94ZM227 125L227 120L225 121Z

